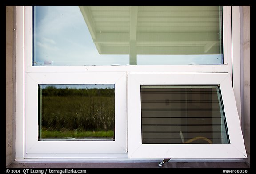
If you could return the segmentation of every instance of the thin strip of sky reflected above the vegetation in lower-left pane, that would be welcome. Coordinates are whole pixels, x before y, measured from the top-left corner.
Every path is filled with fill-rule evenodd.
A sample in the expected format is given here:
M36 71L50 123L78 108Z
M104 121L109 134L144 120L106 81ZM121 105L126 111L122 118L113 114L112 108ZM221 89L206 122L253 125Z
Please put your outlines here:
M114 84L54 84L54 85L40 85L42 89L47 88L48 86L54 86L56 88L76 88L76 89L105 89L105 88L115 88Z

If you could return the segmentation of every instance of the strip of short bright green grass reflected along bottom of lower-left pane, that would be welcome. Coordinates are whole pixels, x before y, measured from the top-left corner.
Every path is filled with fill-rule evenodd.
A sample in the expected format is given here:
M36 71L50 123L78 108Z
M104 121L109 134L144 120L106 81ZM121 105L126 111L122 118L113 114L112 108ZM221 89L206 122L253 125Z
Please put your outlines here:
M48 131L42 130L42 139L45 138L106 138L114 137L114 131Z

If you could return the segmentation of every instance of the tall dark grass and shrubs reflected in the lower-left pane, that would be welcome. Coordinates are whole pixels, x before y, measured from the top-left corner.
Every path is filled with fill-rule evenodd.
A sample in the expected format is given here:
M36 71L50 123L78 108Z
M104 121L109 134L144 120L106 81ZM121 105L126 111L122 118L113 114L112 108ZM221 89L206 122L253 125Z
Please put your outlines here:
M40 126L49 131L114 130L114 94L114 89L42 89Z

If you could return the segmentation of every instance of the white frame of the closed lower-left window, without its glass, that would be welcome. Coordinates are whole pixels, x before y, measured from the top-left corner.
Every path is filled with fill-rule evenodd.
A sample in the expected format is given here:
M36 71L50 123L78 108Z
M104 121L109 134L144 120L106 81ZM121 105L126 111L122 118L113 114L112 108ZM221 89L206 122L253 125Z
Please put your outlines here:
M126 154L126 72L115 73L27 73L25 81L25 157L99 157ZM39 141L39 84L114 84L114 141ZM103 155L100 155L103 154ZM124 156L124 155L123 155Z

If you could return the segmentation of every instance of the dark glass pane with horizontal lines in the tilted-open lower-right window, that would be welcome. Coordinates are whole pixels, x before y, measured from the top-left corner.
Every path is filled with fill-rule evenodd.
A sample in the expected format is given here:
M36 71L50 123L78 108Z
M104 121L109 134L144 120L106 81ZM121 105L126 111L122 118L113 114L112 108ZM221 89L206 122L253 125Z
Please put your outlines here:
M229 143L220 87L141 85L143 144Z

